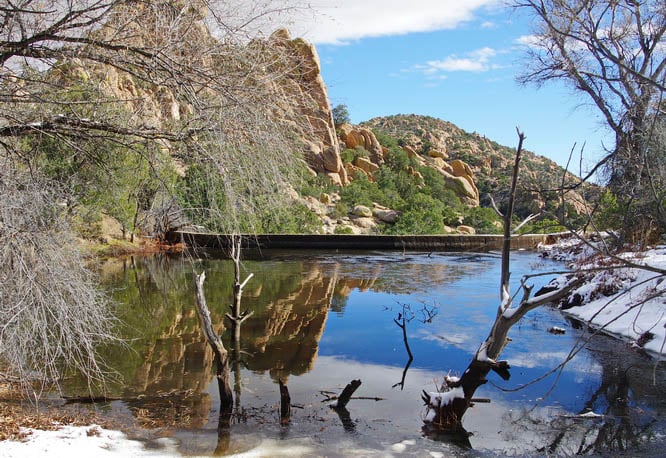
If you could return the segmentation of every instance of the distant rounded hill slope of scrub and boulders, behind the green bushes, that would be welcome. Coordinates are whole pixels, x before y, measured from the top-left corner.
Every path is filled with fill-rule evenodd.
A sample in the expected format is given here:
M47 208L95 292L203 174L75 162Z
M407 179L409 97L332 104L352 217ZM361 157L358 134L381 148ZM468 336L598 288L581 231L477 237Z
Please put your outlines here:
M444 175L448 186L464 196L463 200L468 205L479 201L479 188L484 194L491 194L499 205L508 197L510 180L507 177L511 175L515 155L511 147L430 116L379 117L364 122L362 127L399 138L410 158L415 158L421 165L436 168ZM561 186L563 177L568 184L577 183L572 174L555 162L524 151L517 214L527 216L540 210L557 213L560 203L553 200L547 190ZM534 192L539 189L545 191ZM566 211L586 213L585 199L578 192L568 192L567 199Z

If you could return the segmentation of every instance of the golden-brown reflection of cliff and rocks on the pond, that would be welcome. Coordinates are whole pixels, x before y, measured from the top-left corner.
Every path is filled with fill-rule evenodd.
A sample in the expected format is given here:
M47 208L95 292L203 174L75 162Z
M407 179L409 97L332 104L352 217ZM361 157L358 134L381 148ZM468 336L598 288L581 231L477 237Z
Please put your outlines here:
M254 311L241 329L246 367L283 380L309 371L329 311L343 313L354 289L399 293L414 291L416 277L432 279L424 286L428 288L457 278L455 267L418 263L410 256L389 258L287 261L279 270L271 263L248 265L255 277L243 296L243 309ZM212 261L203 268L209 274L206 296L211 313L218 332L225 334L221 317L231 298L231 263ZM109 268L105 275L115 278L108 284L121 292L120 317L136 333L129 337L140 339L132 357L109 358L125 376L123 396L133 399L130 406L137 418L146 424L160 417L168 422L187 412L189 420L183 426L205 423L211 408L206 389L214 372L213 355L194 310L191 265L150 257ZM226 345L233 348L228 341Z

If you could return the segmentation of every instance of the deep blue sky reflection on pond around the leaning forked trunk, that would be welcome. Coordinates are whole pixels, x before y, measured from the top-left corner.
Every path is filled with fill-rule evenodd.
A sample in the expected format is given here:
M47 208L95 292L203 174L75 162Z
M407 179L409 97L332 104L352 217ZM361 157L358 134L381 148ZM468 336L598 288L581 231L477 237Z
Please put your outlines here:
M386 260L384 260L386 261ZM388 263L384 273L391 277L407 274L414 269L409 262ZM410 304L417 317L408 323L409 344L414 355L413 368L461 373L467 367L474 352L487 337L497 310L499 258L493 256L435 255L418 257L418 262L431 265L432 271L446 272L438 268L449 265L455 272L453 279L441 279L437 284L432 278L401 279L401 284L412 285L411 294L388 294L376 291L354 290L350 294L343 314L330 315L319 346L320 356L337 356L349 360L402 367L407 353L402 341L402 331L393 322L400 304ZM366 259L364 265L372 265ZM454 268L451 265L454 265ZM401 266L394 269L390 266ZM557 268L556 264L544 261L531 253L516 253L512 258L512 284L515 288L525 273L536 273ZM346 271L347 269L343 269ZM427 271L424 269L422 271ZM360 274L360 270L355 271ZM547 282L536 278L535 288ZM437 316L432 323L418 321L418 310L426 304L436 307ZM567 329L565 335L548 333L552 326ZM504 388L514 388L540 377L552 367L566 359L574 345L577 332L571 329L564 318L548 308L529 313L511 330L512 341L505 348L502 359L512 366L510 381L505 382L491 374L491 382ZM569 362L559 375L551 401L568 408L580 406L581 383L598 384L600 367L589 356L579 354ZM508 399L534 400L543 396L555 378L527 389L503 396ZM487 391L490 385L484 387ZM496 396L496 395L493 395Z

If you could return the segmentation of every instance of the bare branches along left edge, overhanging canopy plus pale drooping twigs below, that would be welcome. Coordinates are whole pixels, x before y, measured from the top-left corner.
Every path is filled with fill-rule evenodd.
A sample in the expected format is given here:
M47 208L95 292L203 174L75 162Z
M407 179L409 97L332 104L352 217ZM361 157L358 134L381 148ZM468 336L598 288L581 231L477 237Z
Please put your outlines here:
M74 248L68 216L89 190L68 167L86 164L97 174L125 167L131 177L140 162L159 175L166 157L181 172L196 168L197 186L219 197L200 210L230 230L238 215L286 195L298 161L280 113L298 100L276 81L293 69L248 30L288 8L208 0L0 4L0 372L56 380L64 361L92 378L102 374L94 348L109 338L112 321ZM65 165L63 188L41 170L54 151ZM140 161L109 162L121 154ZM153 188L147 205L171 205L170 183L157 178L161 197Z

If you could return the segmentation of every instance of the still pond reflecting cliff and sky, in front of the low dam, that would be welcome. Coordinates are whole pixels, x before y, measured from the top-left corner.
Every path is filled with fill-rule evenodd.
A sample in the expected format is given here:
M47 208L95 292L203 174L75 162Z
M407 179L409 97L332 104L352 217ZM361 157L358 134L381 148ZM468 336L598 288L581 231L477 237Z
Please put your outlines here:
M626 454L658 456L666 433L663 365L542 307L516 325L503 359L511 379L494 373L464 417L471 448L424 437L422 390L464 371L496 314L500 259L495 253L246 253L249 273L238 345L224 314L233 265L199 254L109 261L101 268L119 303L129 349L107 349L118 372L112 399L97 405L159 447L169 437L183 455L494 456ZM561 269L534 253L512 255L512 280ZM231 351L235 408L218 428L213 356L194 308L193 271L217 331ZM545 283L548 277L537 279ZM408 354L401 328L406 322ZM402 315L400 315L402 316ZM227 322L228 325L228 322ZM552 334L553 326L565 329ZM570 356L561 370L548 373ZM349 418L328 406L354 379ZM541 380L539 380L541 379ZM278 382L292 417L280 424ZM84 395L75 380L70 396ZM481 399L483 401L484 399ZM598 414L593 416L589 412ZM586 414L586 415L581 415Z

